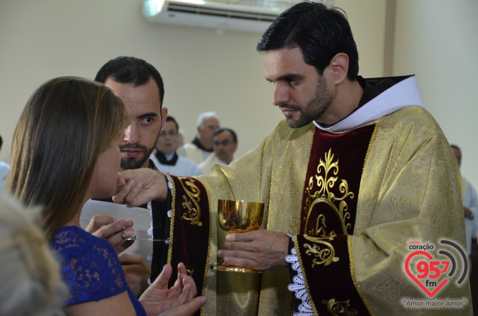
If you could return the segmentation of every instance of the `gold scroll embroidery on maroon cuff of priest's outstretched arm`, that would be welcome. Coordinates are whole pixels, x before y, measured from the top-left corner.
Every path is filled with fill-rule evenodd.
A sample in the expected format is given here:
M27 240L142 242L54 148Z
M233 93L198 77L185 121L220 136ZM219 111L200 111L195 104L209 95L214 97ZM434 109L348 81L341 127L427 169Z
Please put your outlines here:
M201 192L199 188L194 184L194 179L188 177L178 177L178 179L185 193L181 205L187 210L182 218L191 221L191 225L202 226L203 223L199 220L201 217L201 208L199 207Z

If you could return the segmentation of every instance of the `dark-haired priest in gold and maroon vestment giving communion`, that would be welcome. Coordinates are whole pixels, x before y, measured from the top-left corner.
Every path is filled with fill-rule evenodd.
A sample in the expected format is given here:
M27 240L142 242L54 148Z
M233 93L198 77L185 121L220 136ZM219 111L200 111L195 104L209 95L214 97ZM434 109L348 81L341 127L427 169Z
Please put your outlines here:
M460 173L416 77L359 77L346 17L321 3L281 13L257 50L286 119L208 176L168 176L168 188L162 175L126 171L143 187L115 197L169 194L184 221L211 214L202 314L471 315ZM218 230L218 199L264 203L261 229ZM414 255L428 261L409 265ZM262 273L208 269L221 258Z

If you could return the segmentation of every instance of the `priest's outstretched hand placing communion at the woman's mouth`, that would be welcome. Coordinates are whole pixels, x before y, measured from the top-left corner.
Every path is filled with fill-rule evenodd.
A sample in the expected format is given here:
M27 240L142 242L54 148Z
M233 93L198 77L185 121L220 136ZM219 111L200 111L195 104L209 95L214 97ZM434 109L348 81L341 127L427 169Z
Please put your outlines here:
M133 207L152 200L165 201L167 194L168 185L161 172L148 168L129 169L118 173L113 202Z

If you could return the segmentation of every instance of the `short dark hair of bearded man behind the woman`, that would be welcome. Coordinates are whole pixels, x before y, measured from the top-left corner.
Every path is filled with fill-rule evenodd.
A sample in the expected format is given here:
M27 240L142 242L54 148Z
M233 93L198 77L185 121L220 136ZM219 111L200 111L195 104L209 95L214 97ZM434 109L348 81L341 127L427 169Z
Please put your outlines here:
M119 56L107 62L96 74L95 81L104 84L108 78L121 84L145 85L153 77L159 88L160 108L164 99L164 84L159 72L152 65L135 57Z

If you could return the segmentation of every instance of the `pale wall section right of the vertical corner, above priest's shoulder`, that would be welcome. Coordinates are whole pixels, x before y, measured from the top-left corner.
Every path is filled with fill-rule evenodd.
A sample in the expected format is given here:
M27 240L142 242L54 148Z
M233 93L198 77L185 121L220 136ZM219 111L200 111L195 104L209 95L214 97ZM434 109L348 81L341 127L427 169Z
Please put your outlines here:
M478 1L397 1L394 74L416 74L425 106L462 148L478 186Z

